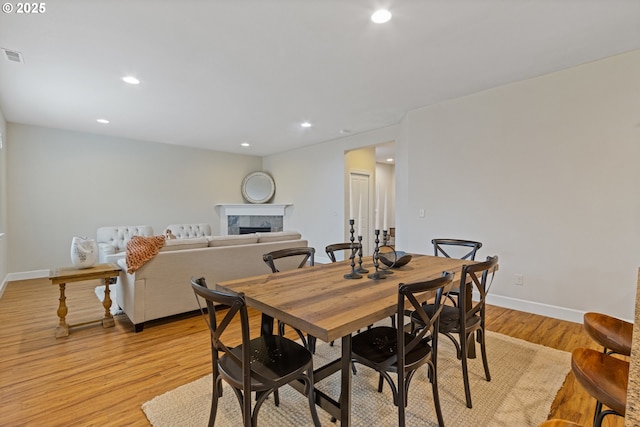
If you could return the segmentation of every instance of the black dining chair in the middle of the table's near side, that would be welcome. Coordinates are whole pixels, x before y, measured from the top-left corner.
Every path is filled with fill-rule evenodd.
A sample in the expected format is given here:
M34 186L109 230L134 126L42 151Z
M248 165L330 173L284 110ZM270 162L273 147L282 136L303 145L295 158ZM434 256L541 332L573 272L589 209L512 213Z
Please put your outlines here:
M451 287L453 273L443 273L442 277L425 282L398 285L397 325L376 326L355 335L352 338L352 359L380 373L378 392L382 392L383 379L391 387L393 403L398 407L398 426L405 425L405 407L409 384L416 370L427 365L433 391L438 425L444 426L440 397L438 394L438 325L444 307L443 301ZM434 295L435 294L435 295ZM422 301L434 296L432 307L427 313ZM413 333L405 331L405 310L413 310L421 327ZM397 385L389 373L397 374Z

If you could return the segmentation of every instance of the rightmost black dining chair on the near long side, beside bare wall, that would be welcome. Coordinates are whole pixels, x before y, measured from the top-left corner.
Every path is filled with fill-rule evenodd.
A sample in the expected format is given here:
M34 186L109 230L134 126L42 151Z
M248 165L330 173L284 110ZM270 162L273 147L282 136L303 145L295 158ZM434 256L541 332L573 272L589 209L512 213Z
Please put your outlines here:
M445 305L440 315L440 333L447 336L456 347L458 359L462 360L462 379L464 381L464 393L467 401L467 407L471 408L471 389L469 387L469 371L468 371L468 348L473 343L473 337L476 335L477 341L480 343L480 351L482 353L482 364L484 365L484 374L487 381L491 381L489 373L489 364L487 362L487 346L485 339L485 305L487 293L491 288L493 277L498 268L498 257L487 257L484 262L477 264L464 265L460 276L458 296L459 303L457 307ZM467 304L467 287L470 286L478 293L477 301L470 301ZM469 307L465 309L465 307ZM427 313L433 313L437 310L434 304L425 304ZM422 327L423 321L415 313L411 315L412 327ZM471 343L470 343L471 341Z

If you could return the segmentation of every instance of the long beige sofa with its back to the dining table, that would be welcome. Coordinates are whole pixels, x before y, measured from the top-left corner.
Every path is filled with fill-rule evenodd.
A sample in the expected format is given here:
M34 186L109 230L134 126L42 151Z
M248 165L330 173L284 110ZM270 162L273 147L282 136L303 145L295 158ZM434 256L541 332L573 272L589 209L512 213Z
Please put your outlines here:
M132 274L126 259L116 284L116 302L136 332L145 322L198 309L191 277L204 277L210 286L225 280L266 274L262 255L277 249L306 247L297 232L167 240L160 252ZM280 269L293 269L299 260L283 260Z

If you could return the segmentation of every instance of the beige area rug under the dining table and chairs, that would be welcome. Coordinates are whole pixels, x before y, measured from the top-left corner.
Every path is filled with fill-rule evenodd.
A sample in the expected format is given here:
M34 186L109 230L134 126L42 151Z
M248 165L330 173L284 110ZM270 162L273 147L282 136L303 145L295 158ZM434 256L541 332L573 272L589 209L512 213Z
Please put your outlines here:
M570 353L555 350L496 333L487 334L491 381L484 379L482 359L470 360L473 408L465 404L462 368L455 358L452 343L442 337L438 357L438 382L444 422L448 427L462 426L537 426L547 419L551 404L570 368ZM338 343L336 343L338 344ZM318 342L315 366L334 359L340 347ZM478 355L479 356L479 355ZM397 408L389 386L377 392L378 375L356 365L353 377L352 424L354 426L397 425ZM242 425L235 394L224 383L219 401L217 426ZM340 389L339 373L317 385L335 398ZM211 375L171 390L146 402L142 410L154 427L206 426L211 404ZM322 409L318 415L323 426L336 426ZM260 409L262 427L313 425L304 397L286 386L280 390L280 406L269 398ZM431 384L427 368L414 376L409 390L407 426L437 426Z

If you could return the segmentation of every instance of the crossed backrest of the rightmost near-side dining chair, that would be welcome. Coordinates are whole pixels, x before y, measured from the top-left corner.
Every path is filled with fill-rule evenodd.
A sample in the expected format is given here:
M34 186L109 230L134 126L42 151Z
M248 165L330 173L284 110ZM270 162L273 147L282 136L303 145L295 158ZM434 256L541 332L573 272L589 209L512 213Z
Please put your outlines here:
M460 277L460 296L459 296L459 308L460 308L460 320L463 323L463 327L466 325L466 321L470 320L476 315L480 315L484 319L484 310L487 300L487 294L489 288L493 282L493 277L498 269L498 256L488 256L486 261L479 262L477 264L465 265L462 267L462 276ZM470 308L465 310L467 306L466 287L472 286L472 291L478 293L477 300L471 302Z

